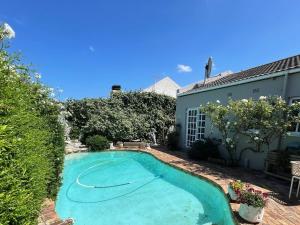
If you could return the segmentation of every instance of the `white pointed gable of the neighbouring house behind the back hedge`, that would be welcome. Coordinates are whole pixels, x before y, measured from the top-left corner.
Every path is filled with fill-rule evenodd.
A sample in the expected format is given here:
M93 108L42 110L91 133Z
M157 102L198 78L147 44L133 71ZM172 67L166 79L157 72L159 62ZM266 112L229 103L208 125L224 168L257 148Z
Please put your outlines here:
M165 77L150 87L143 90L143 92L155 92L157 94L168 95L176 98L177 90L180 86L170 77Z

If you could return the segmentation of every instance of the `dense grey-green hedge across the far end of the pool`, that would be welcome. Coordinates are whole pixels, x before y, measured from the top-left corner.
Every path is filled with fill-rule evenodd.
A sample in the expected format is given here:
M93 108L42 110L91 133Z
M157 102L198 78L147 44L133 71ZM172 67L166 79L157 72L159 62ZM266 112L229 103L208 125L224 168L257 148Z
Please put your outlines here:
M111 141L150 140L152 128L163 142L174 124L175 99L156 93L120 92L110 98L68 100L71 136L102 135Z

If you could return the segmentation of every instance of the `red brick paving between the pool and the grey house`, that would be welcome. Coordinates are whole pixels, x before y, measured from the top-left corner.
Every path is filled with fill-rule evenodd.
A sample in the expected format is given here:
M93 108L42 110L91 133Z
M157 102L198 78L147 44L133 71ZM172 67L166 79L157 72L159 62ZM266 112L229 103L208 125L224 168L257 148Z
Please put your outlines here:
M288 200L289 182L266 177L263 172L246 170L243 168L224 167L209 162L191 161L183 152L166 151L163 149L142 150L157 158L190 173L206 177L219 184L227 193L227 184L232 179L240 179L250 183L254 188L268 192L270 200L265 209L263 225L299 225L300 200ZM243 221L238 213L239 204L231 203L233 212L241 224Z

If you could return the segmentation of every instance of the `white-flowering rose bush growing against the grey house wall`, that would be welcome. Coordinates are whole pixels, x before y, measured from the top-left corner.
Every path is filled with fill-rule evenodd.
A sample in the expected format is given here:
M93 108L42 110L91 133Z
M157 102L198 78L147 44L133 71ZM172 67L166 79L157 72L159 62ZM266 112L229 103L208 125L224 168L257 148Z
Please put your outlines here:
M281 97L261 96L259 100L230 100L227 105L219 101L208 103L201 110L221 133L230 159L236 164L246 150L262 152L262 146L270 150L274 140L281 144L287 131L299 121L300 103L289 105ZM238 155L241 136L247 138L251 147L241 149Z

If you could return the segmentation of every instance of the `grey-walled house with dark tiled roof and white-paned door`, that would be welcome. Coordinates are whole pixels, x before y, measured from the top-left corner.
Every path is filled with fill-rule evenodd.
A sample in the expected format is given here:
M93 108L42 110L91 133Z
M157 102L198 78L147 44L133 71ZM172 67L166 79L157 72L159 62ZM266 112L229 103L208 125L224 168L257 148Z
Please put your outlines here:
M199 110L200 105L219 100L258 99L260 96L281 96L288 103L300 101L300 55L250 68L237 73L221 73L205 81L182 88L176 100L176 124L180 125L180 146L188 149L204 137L220 138L209 119ZM300 126L290 132L287 143L300 142ZM271 146L276 149L276 145ZM221 150L226 157L226 151ZM266 152L247 152L242 163L254 169L263 169ZM246 164L246 163L245 163Z

